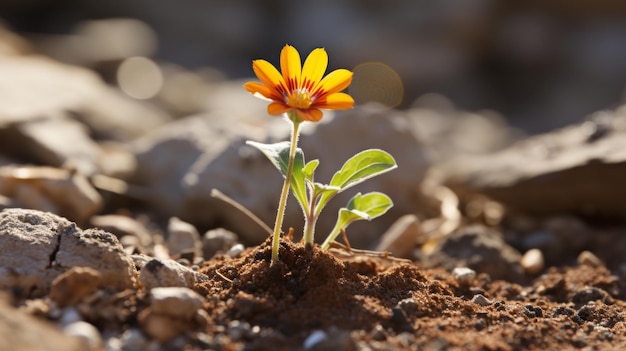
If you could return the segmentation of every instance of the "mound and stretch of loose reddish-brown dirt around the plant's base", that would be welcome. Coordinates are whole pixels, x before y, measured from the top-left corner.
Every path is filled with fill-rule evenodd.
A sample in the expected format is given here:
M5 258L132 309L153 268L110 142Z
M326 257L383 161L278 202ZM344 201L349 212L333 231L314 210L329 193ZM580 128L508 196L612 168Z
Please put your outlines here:
M205 262L204 331L249 325L230 344L247 350L305 349L316 330L327 337L309 349L626 349L624 290L604 267L551 268L528 286L486 275L461 286L442 269L288 240L280 257L270 262L266 242Z

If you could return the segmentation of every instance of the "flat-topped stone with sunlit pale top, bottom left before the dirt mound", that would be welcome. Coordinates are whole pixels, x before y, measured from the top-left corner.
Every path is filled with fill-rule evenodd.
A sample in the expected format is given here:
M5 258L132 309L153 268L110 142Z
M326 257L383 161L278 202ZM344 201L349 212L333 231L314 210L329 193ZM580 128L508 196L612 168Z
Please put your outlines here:
M191 320L202 307L204 298L184 287L163 287L150 290L150 306L154 313Z

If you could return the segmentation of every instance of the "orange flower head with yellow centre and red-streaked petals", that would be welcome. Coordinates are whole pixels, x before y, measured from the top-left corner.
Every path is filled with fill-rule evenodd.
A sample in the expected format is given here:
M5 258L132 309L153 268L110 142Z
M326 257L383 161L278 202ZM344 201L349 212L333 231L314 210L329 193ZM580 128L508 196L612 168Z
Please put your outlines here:
M244 88L272 101L267 106L270 115L295 111L304 121L318 122L323 115L320 109L346 110L354 105L350 95L340 92L350 85L352 72L338 69L322 78L327 66L324 49L311 51L302 66L298 50L285 45L280 52L282 75L271 63L254 60L252 69L261 82L248 82Z

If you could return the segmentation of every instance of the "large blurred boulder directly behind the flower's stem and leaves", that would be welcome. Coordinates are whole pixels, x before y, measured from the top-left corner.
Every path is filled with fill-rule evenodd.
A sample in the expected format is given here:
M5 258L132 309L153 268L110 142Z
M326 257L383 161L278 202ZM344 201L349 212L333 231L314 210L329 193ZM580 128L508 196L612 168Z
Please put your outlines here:
M239 110L242 112L231 117L216 108L215 113L171 123L138 140L134 144L138 182L149 187L146 201L161 214L180 217L202 229L223 226L241 235L244 242L258 243L267 233L239 211L212 198L211 190L219 189L272 224L282 177L261 152L245 145L245 140L287 140L289 125L281 118L268 116L264 118L265 124L260 124L263 120L258 117L243 117L250 113L249 109L239 107L233 111ZM321 160L316 174L318 181L330 181L343 162L368 148L384 149L399 165L397 170L334 199L318 222L318 239L323 239L332 228L338 207L358 191L385 192L396 205L389 214L361 229L359 224L354 225L359 236L351 239L359 245L371 244L395 218L418 206L418 184L428 162L402 113L353 111L337 114L335 118L327 113L324 122L306 127L300 147L308 160ZM283 230L289 227L298 230L302 223L302 212L292 198Z

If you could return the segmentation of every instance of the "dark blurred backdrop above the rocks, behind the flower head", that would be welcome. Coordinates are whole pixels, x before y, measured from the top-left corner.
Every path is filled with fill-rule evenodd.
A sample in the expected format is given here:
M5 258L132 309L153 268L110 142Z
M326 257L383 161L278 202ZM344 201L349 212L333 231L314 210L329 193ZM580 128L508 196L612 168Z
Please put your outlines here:
M141 99L167 93L168 79L193 87L194 74L250 77L252 59L278 64L289 43L303 53L325 47L330 68L382 62L397 72L355 85L370 90L363 96L373 90L407 108L439 93L463 110L496 110L529 134L624 100L621 0L2 0L0 17L36 51L95 69ZM194 74L170 74L181 71Z

